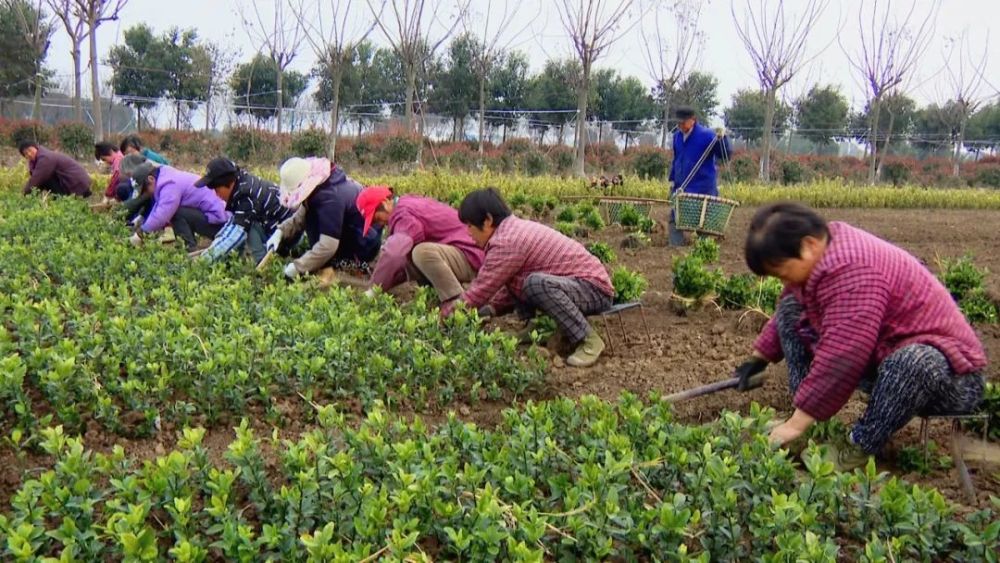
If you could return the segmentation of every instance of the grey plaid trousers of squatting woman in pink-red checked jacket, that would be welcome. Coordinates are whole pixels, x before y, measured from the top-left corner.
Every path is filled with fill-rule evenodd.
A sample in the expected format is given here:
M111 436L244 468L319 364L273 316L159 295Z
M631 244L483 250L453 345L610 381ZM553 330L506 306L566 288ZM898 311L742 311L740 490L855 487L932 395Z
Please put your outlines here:
M521 287L524 301L518 306L521 318L530 319L538 311L556 321L570 344L576 345L591 330L587 315L611 306L611 296L583 280L549 274L530 274Z

